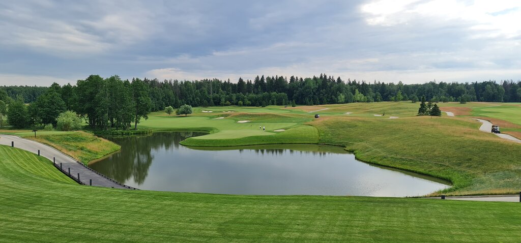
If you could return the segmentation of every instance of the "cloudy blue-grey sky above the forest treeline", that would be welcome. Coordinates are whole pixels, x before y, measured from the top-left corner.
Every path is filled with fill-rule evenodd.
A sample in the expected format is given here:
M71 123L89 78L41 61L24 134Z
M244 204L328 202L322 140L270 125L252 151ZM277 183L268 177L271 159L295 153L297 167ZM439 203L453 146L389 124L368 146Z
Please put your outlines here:
M521 79L521 1L0 1L0 85Z

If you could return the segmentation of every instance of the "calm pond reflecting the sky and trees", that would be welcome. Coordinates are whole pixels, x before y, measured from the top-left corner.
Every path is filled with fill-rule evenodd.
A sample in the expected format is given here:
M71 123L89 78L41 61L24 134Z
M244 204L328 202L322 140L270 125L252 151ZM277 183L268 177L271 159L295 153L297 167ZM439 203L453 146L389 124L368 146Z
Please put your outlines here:
M370 165L341 147L191 148L197 132L107 137L121 151L89 164L146 190L242 195L420 196L449 187L433 177Z

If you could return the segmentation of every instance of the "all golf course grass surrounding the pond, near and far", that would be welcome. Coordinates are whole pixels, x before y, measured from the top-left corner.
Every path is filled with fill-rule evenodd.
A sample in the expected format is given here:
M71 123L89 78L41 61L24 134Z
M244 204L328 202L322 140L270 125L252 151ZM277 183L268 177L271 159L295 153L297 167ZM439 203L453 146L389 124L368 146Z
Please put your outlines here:
M202 131L189 147L335 145L358 160L434 176L452 186L427 196L517 194L521 144L479 131L489 120L521 138L521 105L439 103L455 117L416 116L406 101L321 106L196 107L149 114L139 129ZM320 118L314 118L320 114ZM90 132L2 130L88 163L120 149ZM511 242L519 203L354 196L254 196L78 185L52 161L0 146L3 241Z

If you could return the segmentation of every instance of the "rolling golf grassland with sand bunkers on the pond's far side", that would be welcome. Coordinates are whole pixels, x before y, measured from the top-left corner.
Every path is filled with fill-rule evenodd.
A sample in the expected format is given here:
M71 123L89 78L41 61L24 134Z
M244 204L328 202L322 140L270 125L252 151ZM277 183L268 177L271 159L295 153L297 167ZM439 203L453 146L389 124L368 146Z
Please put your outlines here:
M498 104L440 104L442 109L460 111L460 114L468 112L468 116L473 107L494 105ZM428 174L453 183L452 188L440 193L518 193L521 188L519 144L480 132L481 123L465 116L417 117L418 106L418 103L410 102L385 102L295 108L208 107L194 109L189 117L154 113L141 126L156 131L193 129L210 132L184 140L182 144L187 146L339 145L353 151L360 160ZM521 107L518 108L521 111ZM346 114L348 112L350 114ZM321 118L314 119L315 113ZM375 116L383 113L385 116ZM221 117L224 119L216 119ZM266 126L266 131L259 130L259 125Z

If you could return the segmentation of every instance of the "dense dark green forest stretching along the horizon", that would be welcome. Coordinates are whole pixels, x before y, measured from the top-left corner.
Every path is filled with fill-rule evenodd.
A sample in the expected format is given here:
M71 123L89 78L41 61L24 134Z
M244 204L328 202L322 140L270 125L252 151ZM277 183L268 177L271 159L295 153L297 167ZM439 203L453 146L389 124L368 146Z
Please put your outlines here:
M399 82L344 81L320 74L313 78L291 76L257 76L252 80L240 78L237 82L197 80L178 81L157 79L121 80L119 76L102 78L91 75L75 85L51 87L2 86L0 100L9 106L27 107L27 122L17 126L38 124L56 125L60 112L72 110L84 117L94 129L126 130L150 111L167 106L268 106L268 105L322 105L354 102L418 101L448 102L491 101L521 102L521 81L485 81L473 83L429 82L403 84ZM1 105L1 104L0 104ZM5 112L4 112L5 113ZM9 113L9 112L7 112ZM9 114L7 114L9 116ZM11 114L13 123L17 114ZM21 116L20 119L23 118ZM21 120L19 120L21 121Z

